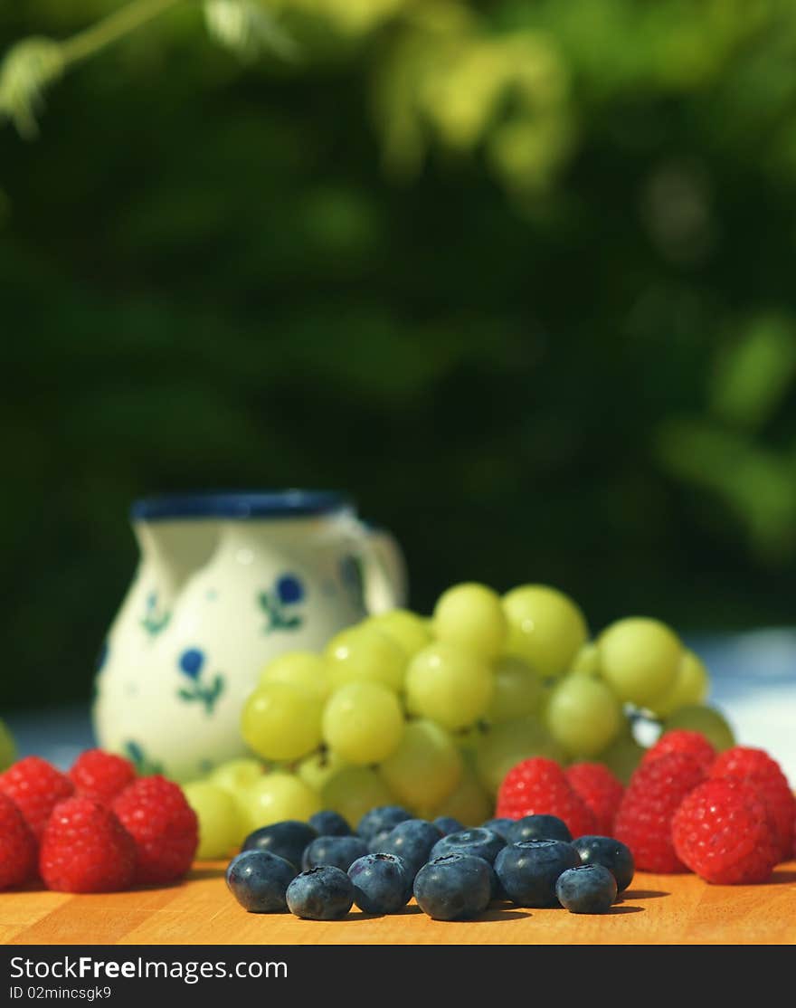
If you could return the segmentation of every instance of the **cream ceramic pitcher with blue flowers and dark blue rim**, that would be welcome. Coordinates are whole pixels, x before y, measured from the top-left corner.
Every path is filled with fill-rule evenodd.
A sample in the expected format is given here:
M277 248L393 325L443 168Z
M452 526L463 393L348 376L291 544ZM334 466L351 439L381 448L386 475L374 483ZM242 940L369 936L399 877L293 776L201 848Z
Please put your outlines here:
M240 716L268 660L320 651L406 602L395 537L344 495L280 490L134 502L140 550L95 679L97 744L186 781L247 755Z

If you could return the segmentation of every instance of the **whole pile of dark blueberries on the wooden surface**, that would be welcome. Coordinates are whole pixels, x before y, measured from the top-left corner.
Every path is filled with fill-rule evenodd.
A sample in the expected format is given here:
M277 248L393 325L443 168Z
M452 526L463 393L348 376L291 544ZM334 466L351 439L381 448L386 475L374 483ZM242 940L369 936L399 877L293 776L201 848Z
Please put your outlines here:
M452 818L416 818L383 805L356 831L330 810L255 830L226 879L251 913L340 920L355 904L364 913L397 913L414 896L434 920L469 920L499 903L606 913L634 870L625 844L573 839L555 815L492 818L466 829Z

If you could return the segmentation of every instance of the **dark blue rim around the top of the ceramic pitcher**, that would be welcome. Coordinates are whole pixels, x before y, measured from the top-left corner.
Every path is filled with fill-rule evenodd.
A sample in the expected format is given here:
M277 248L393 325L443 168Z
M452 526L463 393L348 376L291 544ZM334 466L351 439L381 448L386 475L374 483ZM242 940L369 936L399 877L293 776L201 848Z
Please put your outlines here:
M170 518L294 518L352 510L337 490L210 490L141 497L130 506L132 521Z

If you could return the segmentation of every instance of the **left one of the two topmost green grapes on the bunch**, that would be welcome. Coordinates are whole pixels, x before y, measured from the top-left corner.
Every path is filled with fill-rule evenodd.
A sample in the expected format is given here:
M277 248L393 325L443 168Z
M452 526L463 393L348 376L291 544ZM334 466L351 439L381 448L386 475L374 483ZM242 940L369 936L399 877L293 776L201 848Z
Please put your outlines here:
M501 599L486 585L453 585L437 599L434 637L492 661L506 643L508 626Z

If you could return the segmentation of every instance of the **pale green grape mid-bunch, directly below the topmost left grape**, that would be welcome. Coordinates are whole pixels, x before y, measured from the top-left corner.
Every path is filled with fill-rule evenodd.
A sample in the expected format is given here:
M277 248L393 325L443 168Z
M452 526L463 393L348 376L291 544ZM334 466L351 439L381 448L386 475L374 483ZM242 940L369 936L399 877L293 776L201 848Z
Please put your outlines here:
M440 640L409 662L405 688L410 714L455 731L484 717L495 691L495 675L483 658Z

